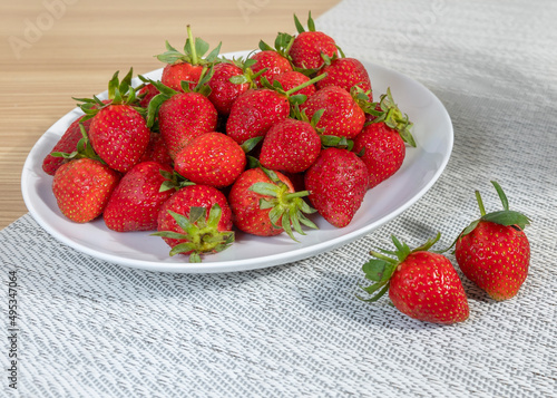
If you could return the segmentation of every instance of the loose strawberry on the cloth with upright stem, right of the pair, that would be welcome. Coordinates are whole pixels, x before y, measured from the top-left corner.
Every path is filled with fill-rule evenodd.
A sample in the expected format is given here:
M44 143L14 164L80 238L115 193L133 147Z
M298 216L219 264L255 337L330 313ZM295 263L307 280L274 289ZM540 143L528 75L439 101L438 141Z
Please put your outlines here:
M514 298L528 275L530 243L524 229L530 222L510 211L502 188L491 182L501 200L502 211L488 213L476 192L481 217L459 235L455 255L462 273L494 300Z

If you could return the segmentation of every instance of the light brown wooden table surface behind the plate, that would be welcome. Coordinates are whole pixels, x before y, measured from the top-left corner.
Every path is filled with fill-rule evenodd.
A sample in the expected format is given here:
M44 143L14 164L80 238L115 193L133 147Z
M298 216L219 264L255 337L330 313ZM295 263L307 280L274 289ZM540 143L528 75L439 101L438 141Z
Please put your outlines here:
M160 68L165 40L182 48L186 26L222 51L273 43L339 0L79 1L0 3L0 229L27 213L23 163L37 139L76 106L71 97L104 91L116 70ZM319 26L317 26L319 28Z

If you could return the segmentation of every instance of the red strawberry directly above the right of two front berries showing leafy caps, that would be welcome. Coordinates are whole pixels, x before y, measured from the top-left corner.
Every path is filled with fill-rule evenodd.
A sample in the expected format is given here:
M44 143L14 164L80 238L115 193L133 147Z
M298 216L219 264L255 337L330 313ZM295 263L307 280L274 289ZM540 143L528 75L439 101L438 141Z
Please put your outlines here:
M311 123L284 119L265 135L260 162L271 169L301 173L307 169L321 153L321 138Z

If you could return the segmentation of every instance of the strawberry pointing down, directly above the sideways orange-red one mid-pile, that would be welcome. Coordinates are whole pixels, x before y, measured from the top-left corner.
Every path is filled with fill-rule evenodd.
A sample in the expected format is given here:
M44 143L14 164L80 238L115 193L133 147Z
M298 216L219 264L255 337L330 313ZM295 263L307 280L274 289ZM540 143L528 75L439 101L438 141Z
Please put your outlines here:
M173 159L195 137L216 128L218 113L206 97L209 78L204 75L194 91L184 84L184 93L150 80L160 94L149 104L147 125L153 126L158 117L158 129Z

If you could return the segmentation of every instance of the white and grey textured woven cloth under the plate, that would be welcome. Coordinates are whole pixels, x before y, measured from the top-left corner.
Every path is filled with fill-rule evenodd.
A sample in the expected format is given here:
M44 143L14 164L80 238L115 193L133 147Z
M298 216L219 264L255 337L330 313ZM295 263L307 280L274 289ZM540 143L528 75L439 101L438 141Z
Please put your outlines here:
M4 309L9 271L19 285L18 394L556 397L555 20L557 3L543 0L345 0L317 19L346 55L430 88L455 127L432 190L335 251L260 271L167 274L84 255L30 215L1 231ZM370 249L391 233L417 245L437 231L449 245L478 215L475 190L498 202L490 179L532 220L530 273L515 299L495 302L462 279L470 319L440 327L355 298Z

